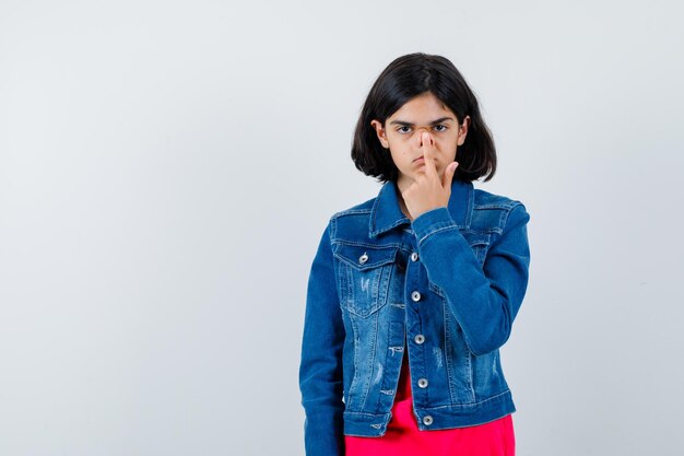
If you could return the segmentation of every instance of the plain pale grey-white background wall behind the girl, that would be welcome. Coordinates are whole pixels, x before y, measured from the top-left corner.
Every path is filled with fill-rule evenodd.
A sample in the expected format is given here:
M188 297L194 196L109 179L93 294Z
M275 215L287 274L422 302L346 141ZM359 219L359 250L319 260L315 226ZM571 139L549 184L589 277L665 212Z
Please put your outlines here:
M440 54L522 200L520 456L680 454L671 1L0 3L0 455L302 455L306 282L394 58Z

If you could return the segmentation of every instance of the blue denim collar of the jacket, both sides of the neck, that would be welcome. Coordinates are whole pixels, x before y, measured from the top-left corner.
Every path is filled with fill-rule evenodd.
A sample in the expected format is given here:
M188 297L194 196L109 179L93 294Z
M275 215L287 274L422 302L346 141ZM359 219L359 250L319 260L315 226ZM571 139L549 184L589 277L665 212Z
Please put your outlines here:
M411 223L411 220L401 212L398 191L399 189L393 180L386 182L380 188L380 192L370 209L370 223L368 226L368 235L370 237L375 237L394 226ZM453 178L447 208L458 227L469 227L473 209L473 184Z

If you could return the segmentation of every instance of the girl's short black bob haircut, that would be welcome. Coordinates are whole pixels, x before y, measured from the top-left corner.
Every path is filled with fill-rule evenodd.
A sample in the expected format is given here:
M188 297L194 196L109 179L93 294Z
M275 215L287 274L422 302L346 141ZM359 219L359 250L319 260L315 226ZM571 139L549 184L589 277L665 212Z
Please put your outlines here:
M484 182L490 180L496 172L496 150L475 95L451 61L424 52L398 57L370 87L352 143L352 160L356 168L382 183L397 182L399 169L370 121L377 119L385 127L387 118L404 103L425 92L432 92L451 109L459 125L463 124L465 116L470 116L465 142L458 148L459 166L453 178L472 182L486 175Z

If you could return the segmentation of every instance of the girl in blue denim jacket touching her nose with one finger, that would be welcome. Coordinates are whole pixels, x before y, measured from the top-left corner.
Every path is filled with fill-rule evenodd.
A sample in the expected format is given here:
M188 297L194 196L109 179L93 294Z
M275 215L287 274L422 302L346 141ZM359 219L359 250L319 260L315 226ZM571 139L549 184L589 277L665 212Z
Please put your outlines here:
M496 152L440 56L392 61L352 159L384 185L334 213L314 258L299 386L308 456L515 454L499 348L526 293L530 215L475 189Z

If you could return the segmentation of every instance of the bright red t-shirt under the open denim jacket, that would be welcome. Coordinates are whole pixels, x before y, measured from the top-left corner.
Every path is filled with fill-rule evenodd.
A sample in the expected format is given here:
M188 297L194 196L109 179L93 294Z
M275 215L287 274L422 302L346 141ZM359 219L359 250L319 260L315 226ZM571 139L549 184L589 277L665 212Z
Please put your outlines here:
M468 428L420 431L412 409L409 359L404 349L387 432L381 437L345 435L345 456L515 456L511 414Z

